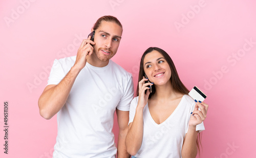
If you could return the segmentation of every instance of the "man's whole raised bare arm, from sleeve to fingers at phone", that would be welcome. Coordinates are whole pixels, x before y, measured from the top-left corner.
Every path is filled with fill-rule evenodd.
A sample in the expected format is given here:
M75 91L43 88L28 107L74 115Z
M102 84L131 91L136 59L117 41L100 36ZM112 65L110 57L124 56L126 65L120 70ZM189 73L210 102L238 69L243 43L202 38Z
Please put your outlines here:
M91 41L90 38L82 41L77 52L75 64L68 74L57 85L50 84L46 86L39 97L38 107L43 118L51 119L66 103L77 75L86 66L87 55L93 53L91 44L95 44L95 42Z

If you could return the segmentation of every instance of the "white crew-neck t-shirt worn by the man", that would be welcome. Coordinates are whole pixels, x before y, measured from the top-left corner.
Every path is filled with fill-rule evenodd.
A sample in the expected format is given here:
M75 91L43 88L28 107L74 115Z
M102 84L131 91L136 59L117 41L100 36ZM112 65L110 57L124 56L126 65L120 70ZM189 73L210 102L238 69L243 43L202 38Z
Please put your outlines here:
M55 60L48 85L58 84L75 60L76 56ZM86 63L57 113L53 157L115 157L114 112L129 111L133 95L132 75L121 66L112 60L104 67Z

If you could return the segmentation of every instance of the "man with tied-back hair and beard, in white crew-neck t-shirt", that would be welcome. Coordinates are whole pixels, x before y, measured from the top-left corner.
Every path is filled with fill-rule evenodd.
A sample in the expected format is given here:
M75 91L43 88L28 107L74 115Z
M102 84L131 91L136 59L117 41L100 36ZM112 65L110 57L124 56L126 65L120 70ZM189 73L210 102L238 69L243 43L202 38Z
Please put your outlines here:
M48 85L38 100L40 115L57 114L53 157L129 157L124 145L133 99L133 79L110 60L117 52L122 25L116 17L100 17L74 57L55 60ZM117 148L112 132L119 125Z

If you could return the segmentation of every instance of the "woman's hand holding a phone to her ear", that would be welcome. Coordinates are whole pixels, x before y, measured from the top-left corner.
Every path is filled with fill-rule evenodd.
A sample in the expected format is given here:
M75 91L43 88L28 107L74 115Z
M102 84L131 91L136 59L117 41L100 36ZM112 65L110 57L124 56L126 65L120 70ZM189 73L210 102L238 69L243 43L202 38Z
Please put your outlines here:
M143 79L139 82L139 100L138 100L137 108L144 108L148 101L148 96L150 96L150 90L149 90L150 87L147 87L147 86L153 85L153 83L150 83L150 82L145 83L145 81L148 81L148 79L146 79L143 76Z

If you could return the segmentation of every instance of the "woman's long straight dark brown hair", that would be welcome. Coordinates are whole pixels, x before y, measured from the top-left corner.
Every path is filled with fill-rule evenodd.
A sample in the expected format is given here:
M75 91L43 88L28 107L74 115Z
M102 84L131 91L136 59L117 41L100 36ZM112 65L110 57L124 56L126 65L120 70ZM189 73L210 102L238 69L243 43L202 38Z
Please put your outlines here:
M143 53L141 60L140 60L140 70L139 70L138 82L141 81L143 79L143 76L145 75L144 66L143 66L144 58L145 58L146 54L151 53L152 51L158 51L159 53L161 53L163 55L163 57L165 58L165 60L167 61L167 63L169 64L170 71L172 72L172 75L170 76L170 81L171 81L173 90L177 93L181 93L183 95L185 95L185 94L188 95L189 91L186 88L186 86L181 82L172 58L170 58L170 56L164 50L157 48L157 47L150 47ZM156 88L154 85L152 85L152 93L150 94L148 99L150 99L155 93L156 93ZM136 95L139 96L139 83L137 84ZM200 147L202 147L200 135L201 134L199 133L199 136L197 137L197 149L199 151L199 156L200 156Z

